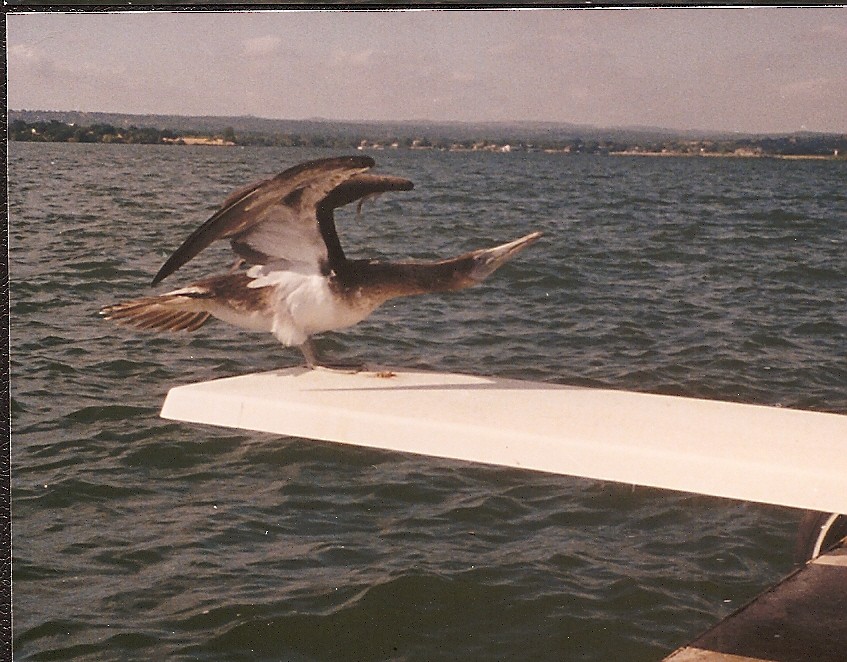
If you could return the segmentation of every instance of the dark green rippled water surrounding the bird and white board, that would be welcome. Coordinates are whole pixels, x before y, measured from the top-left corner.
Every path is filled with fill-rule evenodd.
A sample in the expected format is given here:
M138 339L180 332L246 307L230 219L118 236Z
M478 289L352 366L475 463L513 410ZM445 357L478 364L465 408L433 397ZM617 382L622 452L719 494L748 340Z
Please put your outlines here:
M654 660L791 569L789 509L159 419L171 386L299 353L97 310L232 189L328 154L9 152L17 659ZM323 352L847 413L844 162L375 156L416 189L338 215L351 257L545 237Z

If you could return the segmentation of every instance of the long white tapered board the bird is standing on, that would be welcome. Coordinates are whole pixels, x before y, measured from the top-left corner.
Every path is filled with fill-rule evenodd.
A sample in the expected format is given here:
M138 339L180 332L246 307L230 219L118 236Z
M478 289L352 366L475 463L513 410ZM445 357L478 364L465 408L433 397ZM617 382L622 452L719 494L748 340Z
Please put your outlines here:
M405 369L178 386L162 417L847 514L847 416Z

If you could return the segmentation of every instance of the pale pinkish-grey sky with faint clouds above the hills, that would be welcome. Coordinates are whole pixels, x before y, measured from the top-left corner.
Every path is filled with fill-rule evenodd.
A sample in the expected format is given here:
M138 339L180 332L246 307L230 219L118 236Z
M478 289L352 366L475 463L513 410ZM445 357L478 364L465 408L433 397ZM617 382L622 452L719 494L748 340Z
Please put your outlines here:
M847 133L847 9L7 15L10 109Z

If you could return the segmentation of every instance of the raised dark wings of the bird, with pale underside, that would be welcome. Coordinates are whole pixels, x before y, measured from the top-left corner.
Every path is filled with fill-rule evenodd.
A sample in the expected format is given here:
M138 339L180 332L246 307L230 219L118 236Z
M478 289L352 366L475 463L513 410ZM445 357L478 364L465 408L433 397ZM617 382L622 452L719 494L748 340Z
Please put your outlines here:
M339 256L343 260L332 210L367 195L412 187L399 177L360 174L373 165L367 156L309 161L236 191L168 258L153 285L218 239L231 239L236 253L251 262L323 269Z

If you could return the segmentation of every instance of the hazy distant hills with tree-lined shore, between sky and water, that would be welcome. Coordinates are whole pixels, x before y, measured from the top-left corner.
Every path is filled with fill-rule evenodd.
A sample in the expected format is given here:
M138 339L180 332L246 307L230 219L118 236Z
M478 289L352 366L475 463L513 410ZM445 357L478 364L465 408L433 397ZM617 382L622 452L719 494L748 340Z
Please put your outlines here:
M9 111L9 139L37 142L439 149L571 154L847 157L847 135L741 135L655 127L599 128L559 122L338 122L252 116L129 115Z

